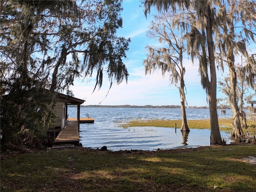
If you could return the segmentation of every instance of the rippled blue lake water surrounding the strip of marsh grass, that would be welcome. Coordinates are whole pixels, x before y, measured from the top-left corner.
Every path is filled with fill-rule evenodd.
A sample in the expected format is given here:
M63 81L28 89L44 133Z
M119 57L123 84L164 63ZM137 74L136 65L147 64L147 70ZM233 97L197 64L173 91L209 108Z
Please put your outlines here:
M86 113L94 118L92 124L80 124L80 142L83 147L108 150L157 150L198 147L210 145L210 130L190 129L182 136L179 128L162 127L120 127L122 122L132 119L181 119L180 109L172 108L80 108L80 117ZM76 118L76 107L68 108L68 117ZM187 119L209 119L209 109L186 109ZM218 110L221 117L221 111ZM230 118L232 112L226 110L223 118ZM173 125L174 126L174 125ZM222 138L230 143L229 132L221 132Z

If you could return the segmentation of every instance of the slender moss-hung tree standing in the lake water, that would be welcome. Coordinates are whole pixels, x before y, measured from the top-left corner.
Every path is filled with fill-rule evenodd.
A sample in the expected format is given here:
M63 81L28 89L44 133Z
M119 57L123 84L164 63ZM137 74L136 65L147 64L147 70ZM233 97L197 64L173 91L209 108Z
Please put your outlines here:
M182 22L178 25L175 20L180 19L180 15L175 16L170 13L161 12L160 15L154 16L154 21L151 22L150 31L148 36L150 38L159 38L161 48L154 48L153 46L147 46L149 52L147 59L144 60L146 74L158 68L162 70L162 76L166 72L170 73L170 81L172 84L180 82L180 108L182 114L182 126L180 130L182 132L189 132L187 118L186 118L186 94L184 84L185 68L183 67L183 53L184 48L184 26ZM177 21L178 22L178 21ZM177 34L179 33L179 35Z

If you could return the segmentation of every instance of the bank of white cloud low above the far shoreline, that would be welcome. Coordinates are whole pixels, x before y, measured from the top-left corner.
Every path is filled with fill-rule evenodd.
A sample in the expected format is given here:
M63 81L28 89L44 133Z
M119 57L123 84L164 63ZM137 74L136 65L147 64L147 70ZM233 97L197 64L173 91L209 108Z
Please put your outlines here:
M134 62L131 63L134 64ZM189 80L185 82L188 92L190 88L195 87L195 84L200 85L200 78L198 82L198 74L194 73L197 71L196 67L191 67L189 71L186 74ZM142 65L132 68L127 84L125 82L120 85L113 84L109 93L110 84L106 78L102 88L96 89L92 93L94 83L95 80L92 78L87 84L76 81L72 87L75 97L86 100L85 105L99 104L100 102L102 105L180 105L178 89L176 86L170 85L169 76L166 75L163 78L161 71L145 75ZM193 105L192 102L191 105Z

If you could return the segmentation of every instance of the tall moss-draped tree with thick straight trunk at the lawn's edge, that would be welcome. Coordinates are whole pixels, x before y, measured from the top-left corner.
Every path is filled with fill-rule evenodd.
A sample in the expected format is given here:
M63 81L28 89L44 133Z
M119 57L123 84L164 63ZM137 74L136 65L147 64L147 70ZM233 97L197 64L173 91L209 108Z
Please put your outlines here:
M217 80L214 55L214 8L213 2L210 0L145 0L145 15L150 12L150 7L155 6L158 11L176 12L176 10L187 10L187 21L190 22L190 31L188 31L187 50L192 58L199 58L199 71L201 75L201 83L208 95L210 108L210 144L222 144L220 129L218 126L217 114ZM191 9L191 11L190 11ZM207 55L208 53L208 55ZM208 75L208 66L210 68L210 76Z

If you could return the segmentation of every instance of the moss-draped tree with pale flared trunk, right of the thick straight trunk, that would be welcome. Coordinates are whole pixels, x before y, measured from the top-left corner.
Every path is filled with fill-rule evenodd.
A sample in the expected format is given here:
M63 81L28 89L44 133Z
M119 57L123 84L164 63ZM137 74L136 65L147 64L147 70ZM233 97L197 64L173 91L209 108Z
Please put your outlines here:
M240 74L250 74L248 76L248 84L255 87L256 74L253 71L253 66L256 62L253 56L250 56L246 49L246 42L254 41L255 26L256 26L256 4L249 0L236 1L216 1L218 12L216 14L216 24L218 28L215 29L215 44L216 51L219 51L217 60L223 68L223 63L226 63L229 69L230 80L226 81L227 90L226 95L229 98L230 107L233 111L233 133L232 136L236 139L244 136L244 132L240 123L241 112L238 108L238 93L237 93L237 68L235 66L235 54L242 54L246 60L246 67ZM240 30L240 29L243 30ZM254 83L253 83L254 82ZM243 95L243 94L242 94ZM242 104L242 100L240 101ZM244 117L245 118L245 117Z

